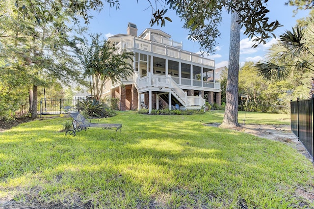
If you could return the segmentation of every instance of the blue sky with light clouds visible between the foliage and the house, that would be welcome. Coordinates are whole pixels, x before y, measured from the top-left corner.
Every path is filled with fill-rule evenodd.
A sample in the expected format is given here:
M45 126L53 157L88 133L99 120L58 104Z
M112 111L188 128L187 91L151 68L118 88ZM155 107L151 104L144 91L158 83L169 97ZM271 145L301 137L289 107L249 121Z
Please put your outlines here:
M166 22L166 26L161 27L150 26L149 22L152 16L152 9L149 7L147 0L119 0L120 9L110 8L108 4L105 4L105 8L100 12L92 12L90 15L93 19L90 20L88 27L91 33L102 33L105 38L118 33L127 33L128 23L135 24L138 28L138 35L142 33L146 28L160 29L169 35L171 39L177 42L183 43L183 50L189 52L199 52L199 44L197 42L188 40L188 30L182 28L183 22L176 16L176 13L172 10L168 10L167 15L172 19L172 22ZM302 17L306 17L309 11L299 11L295 17L293 17L292 6L286 6L285 2L288 0L269 0L267 2L267 8L270 10L267 17L270 21L278 20L282 27L278 27L274 32L278 38L278 35L290 30L292 26L295 26L296 20ZM216 68L228 66L229 57L229 41L230 41L230 19L231 16L227 12L223 14L222 23L219 26L221 32L220 38L216 41L216 52L211 54L211 58L215 60ZM244 28L242 28L243 30ZM240 63L245 61L259 61L265 55L269 46L275 43L276 40L271 38L265 45L259 45L253 49L252 40L241 35L240 42Z

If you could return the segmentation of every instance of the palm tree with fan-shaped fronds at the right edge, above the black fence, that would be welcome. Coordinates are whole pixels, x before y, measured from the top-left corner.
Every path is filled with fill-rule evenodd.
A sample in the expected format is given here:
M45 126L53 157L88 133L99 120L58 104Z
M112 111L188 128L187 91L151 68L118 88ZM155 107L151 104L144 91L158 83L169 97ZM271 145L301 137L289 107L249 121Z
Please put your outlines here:
M267 55L267 61L255 66L267 80L286 79L293 72L314 71L314 20L307 26L296 26L280 35Z

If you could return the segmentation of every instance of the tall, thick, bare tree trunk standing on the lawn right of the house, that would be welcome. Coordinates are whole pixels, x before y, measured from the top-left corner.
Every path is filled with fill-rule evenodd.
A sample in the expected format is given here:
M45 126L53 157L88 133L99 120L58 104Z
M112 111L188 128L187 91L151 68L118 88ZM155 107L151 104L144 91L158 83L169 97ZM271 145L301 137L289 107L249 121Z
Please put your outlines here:
M238 83L240 60L240 18L236 12L231 13L229 66L226 86L226 108L221 127L238 127Z

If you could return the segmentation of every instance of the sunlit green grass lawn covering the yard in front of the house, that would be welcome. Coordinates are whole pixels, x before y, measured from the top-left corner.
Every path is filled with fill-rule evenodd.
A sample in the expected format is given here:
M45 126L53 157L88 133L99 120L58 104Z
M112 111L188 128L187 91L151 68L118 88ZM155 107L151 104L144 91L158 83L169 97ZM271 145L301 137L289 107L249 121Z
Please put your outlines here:
M239 122L289 124L281 114L239 112ZM69 118L0 133L0 201L58 208L313 208L312 162L291 147L204 115L119 112L122 132L65 136ZM310 197L310 198L309 198ZM312 198L311 198L312 197Z

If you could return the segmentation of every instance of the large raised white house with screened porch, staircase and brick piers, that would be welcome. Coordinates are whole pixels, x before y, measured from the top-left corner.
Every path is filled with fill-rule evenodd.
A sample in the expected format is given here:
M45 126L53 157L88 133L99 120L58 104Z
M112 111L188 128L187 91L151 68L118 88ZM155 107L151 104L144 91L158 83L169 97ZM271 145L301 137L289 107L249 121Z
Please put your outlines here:
M173 108L201 109L221 104L220 83L215 78L215 61L183 50L182 43L159 29L147 28L137 36L135 24L127 34L108 38L119 51L133 52L134 74L124 85L108 85L105 97L119 98L121 110ZM130 60L131 62L131 60Z

